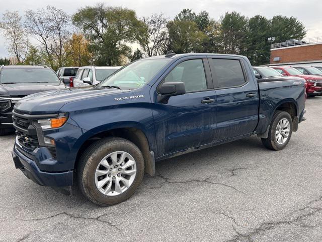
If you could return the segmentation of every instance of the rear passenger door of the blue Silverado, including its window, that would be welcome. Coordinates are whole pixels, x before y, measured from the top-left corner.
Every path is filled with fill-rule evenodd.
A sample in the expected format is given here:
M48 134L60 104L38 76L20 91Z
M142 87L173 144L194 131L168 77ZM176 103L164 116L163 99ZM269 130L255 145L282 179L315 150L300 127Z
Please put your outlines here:
M225 56L210 57L209 65L217 95L216 141L252 133L258 123L259 93L249 64Z

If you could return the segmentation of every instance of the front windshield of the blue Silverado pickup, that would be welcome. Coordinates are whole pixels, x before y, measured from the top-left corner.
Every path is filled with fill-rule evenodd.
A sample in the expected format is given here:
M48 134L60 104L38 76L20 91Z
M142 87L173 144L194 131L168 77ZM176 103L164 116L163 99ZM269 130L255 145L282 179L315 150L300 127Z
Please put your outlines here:
M143 87L167 64L170 59L142 59L122 68L98 86L118 86L121 89Z

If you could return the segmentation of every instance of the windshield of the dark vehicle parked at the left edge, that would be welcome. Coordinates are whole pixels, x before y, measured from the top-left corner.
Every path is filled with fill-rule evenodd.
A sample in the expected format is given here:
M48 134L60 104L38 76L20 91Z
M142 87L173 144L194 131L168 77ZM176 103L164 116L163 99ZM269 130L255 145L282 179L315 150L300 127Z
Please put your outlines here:
M0 83L51 83L59 85L60 79L51 69L15 68L3 69L0 75Z

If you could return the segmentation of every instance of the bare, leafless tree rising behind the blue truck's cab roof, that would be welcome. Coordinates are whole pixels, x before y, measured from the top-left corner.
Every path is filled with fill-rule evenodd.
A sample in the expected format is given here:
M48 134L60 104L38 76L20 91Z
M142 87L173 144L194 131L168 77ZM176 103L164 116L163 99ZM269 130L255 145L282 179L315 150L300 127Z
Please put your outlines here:
M146 33L140 37L139 43L147 56L162 53L168 38L167 22L168 19L163 14L143 17Z

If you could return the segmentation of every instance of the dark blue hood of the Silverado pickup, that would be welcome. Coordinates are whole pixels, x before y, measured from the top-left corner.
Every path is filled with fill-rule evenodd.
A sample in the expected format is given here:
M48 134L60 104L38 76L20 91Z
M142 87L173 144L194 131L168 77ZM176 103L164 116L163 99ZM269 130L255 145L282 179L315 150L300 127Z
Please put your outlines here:
M65 90L54 90L35 93L22 98L16 103L16 111L28 114L58 113L59 109L69 103L78 100L98 98L104 95L120 94L130 90L116 88L79 87Z

